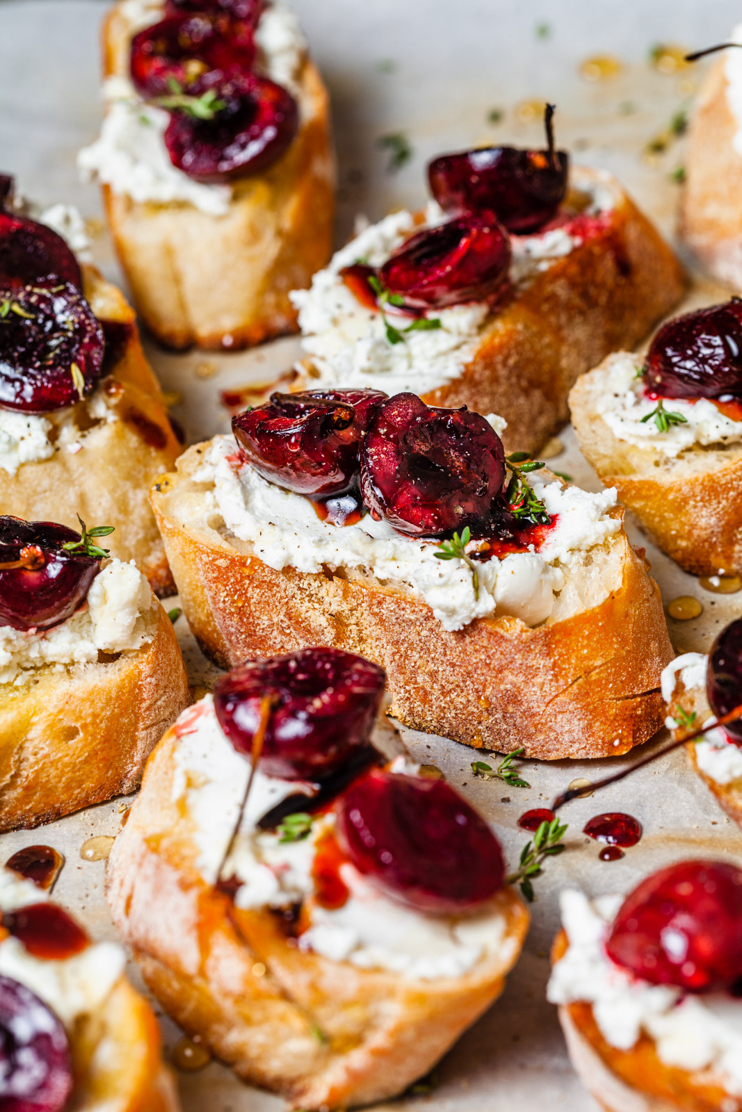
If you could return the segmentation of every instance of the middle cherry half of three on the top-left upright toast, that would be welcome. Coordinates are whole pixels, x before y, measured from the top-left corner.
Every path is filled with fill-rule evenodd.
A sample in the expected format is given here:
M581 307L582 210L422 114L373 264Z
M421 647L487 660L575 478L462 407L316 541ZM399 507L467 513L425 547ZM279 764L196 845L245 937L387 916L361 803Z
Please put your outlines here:
M178 88L200 96L247 73L254 57L251 24L199 12L174 16L135 34L129 66L142 97L171 96Z

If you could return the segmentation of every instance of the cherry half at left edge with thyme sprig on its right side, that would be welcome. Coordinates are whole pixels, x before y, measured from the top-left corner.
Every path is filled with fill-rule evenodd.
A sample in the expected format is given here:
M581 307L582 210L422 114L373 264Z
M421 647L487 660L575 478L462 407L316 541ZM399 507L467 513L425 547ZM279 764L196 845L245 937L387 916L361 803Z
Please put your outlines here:
M0 516L0 626L50 629L75 614L100 570L93 556L62 548L79 539L53 522ZM26 566L7 566L16 563Z

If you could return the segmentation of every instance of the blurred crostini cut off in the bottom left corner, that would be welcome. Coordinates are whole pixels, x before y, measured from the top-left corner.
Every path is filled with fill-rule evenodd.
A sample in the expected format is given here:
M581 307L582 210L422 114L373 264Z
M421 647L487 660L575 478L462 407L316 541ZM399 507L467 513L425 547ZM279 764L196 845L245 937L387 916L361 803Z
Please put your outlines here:
M178 1112L160 1033L126 955L47 893L0 871L0 1036L7 1112Z

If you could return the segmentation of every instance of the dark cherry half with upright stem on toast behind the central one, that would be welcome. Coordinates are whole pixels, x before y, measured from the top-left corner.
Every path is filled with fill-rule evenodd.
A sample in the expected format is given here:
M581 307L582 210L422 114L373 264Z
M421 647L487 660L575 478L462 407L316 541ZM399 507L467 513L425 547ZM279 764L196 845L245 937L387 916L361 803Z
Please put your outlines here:
M431 191L446 212L494 212L508 231L537 231L567 190L566 151L485 147L442 155L428 166Z

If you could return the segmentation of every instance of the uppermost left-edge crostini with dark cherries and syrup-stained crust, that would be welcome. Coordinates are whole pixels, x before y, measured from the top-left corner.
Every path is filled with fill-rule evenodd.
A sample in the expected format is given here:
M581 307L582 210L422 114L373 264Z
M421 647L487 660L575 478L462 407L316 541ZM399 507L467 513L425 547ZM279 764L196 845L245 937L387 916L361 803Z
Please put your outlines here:
M180 445L133 311L0 178L0 507L22 518L117 526L111 552L158 594L172 579L147 490ZM4 207L3 207L4 202ZM82 250L76 210L43 215Z

